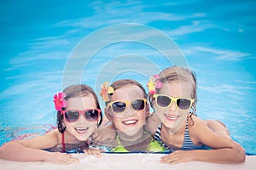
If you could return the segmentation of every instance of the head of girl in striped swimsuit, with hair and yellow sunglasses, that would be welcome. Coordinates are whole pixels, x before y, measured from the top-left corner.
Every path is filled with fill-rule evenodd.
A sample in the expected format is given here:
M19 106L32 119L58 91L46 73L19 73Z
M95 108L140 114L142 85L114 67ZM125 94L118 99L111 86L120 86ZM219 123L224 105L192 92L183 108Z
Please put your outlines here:
M149 93L150 105L169 132L177 133L189 112L195 113L195 75L189 69L173 66L161 71L153 81L160 86Z

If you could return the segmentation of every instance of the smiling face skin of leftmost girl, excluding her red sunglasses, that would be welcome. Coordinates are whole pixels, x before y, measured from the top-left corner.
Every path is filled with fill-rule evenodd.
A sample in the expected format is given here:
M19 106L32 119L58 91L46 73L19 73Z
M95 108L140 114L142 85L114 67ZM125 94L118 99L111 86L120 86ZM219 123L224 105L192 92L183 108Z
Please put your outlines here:
M86 109L96 109L96 100L92 94L68 99L66 111L84 111ZM84 114L80 115L76 122L67 122L64 119L64 123L67 132L80 141L88 139L97 128L97 122L89 122L85 119Z

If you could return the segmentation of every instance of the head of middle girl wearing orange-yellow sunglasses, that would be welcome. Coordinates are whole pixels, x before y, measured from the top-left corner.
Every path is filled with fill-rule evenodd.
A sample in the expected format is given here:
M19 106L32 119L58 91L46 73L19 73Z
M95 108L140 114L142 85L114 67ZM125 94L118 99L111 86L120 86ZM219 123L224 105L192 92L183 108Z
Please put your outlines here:
M113 93L108 94L105 109L108 120L119 136L122 134L129 139L141 136L149 109L145 89L139 82L130 79L113 82L110 88Z

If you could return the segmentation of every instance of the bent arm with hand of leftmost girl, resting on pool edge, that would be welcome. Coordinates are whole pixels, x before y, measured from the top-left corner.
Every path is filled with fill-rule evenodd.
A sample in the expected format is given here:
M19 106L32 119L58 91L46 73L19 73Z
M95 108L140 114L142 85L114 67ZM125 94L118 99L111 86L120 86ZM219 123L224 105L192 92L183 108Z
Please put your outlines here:
M0 147L0 158L12 161L51 161L61 164L77 161L67 154L42 150L56 144L58 144L56 131L34 139L11 141Z

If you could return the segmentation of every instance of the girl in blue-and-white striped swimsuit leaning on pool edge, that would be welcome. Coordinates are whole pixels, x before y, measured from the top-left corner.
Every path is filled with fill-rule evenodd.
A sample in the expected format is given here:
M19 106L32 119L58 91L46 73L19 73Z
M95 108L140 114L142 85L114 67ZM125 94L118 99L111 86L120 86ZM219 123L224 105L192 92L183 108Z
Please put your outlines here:
M160 119L154 138L172 153L161 162L209 161L239 163L245 154L239 144L223 134L214 133L195 116L196 79L192 71L171 67L148 82L148 99ZM204 150L205 146L212 150Z

